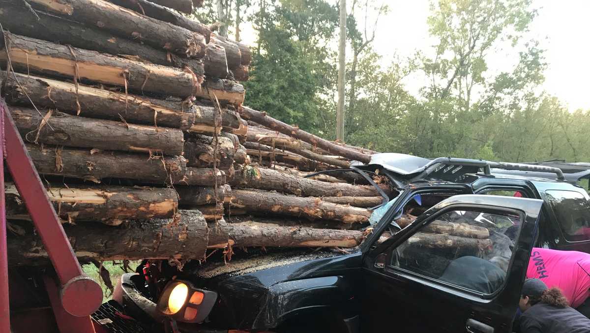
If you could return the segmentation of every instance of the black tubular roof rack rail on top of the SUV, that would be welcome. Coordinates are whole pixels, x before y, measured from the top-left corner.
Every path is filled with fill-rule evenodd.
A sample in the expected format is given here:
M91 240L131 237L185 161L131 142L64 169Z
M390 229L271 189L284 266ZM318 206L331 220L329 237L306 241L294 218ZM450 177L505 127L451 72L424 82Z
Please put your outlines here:
M415 178L426 178L428 175L437 171L440 164L452 164L452 165L463 165L466 167L480 167L483 168L485 175L491 176L491 168L504 169L504 170L519 170L519 171L538 171L538 172L551 172L557 175L559 181L565 181L565 177L560 168L545 167L543 165L533 164L520 164L520 163L508 163L508 162L491 162L483 159L470 159L470 158L452 158L452 157L439 157L432 159L422 169L421 172Z

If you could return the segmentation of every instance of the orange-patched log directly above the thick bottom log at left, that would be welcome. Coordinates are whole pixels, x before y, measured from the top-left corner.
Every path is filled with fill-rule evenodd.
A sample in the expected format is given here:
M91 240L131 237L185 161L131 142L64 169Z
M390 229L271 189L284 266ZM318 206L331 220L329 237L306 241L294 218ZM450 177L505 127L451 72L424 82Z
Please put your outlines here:
M6 218L31 220L17 188L6 183ZM124 220L170 218L178 210L171 188L51 186L47 195L64 221L94 221L118 226Z

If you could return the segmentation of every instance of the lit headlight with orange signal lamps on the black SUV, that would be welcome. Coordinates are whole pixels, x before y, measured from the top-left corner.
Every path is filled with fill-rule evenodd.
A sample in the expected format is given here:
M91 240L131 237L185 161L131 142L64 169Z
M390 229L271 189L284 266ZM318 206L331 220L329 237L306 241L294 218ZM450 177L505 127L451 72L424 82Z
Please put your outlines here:
M172 280L166 285L156 308L163 315L183 322L202 322L217 300L217 293L196 289L191 282Z

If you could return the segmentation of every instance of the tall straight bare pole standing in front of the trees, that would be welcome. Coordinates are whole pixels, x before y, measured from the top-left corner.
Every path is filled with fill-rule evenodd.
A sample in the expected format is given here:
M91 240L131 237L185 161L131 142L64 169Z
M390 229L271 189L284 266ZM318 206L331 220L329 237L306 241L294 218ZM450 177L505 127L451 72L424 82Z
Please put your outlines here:
M338 47L338 106L336 109L336 140L344 142L344 87L346 66L346 0L340 0L340 43Z

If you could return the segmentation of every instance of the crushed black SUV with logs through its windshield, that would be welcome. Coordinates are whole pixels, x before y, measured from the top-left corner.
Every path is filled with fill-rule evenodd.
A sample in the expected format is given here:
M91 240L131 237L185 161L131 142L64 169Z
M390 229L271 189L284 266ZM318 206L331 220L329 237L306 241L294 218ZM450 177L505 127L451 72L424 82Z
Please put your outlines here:
M158 306L143 276L124 275L117 301L137 318L179 319L182 332L512 332L532 248L590 253L590 201L576 184L590 172L402 154L353 169L399 190L357 249L188 265ZM199 323L182 322L189 308Z

